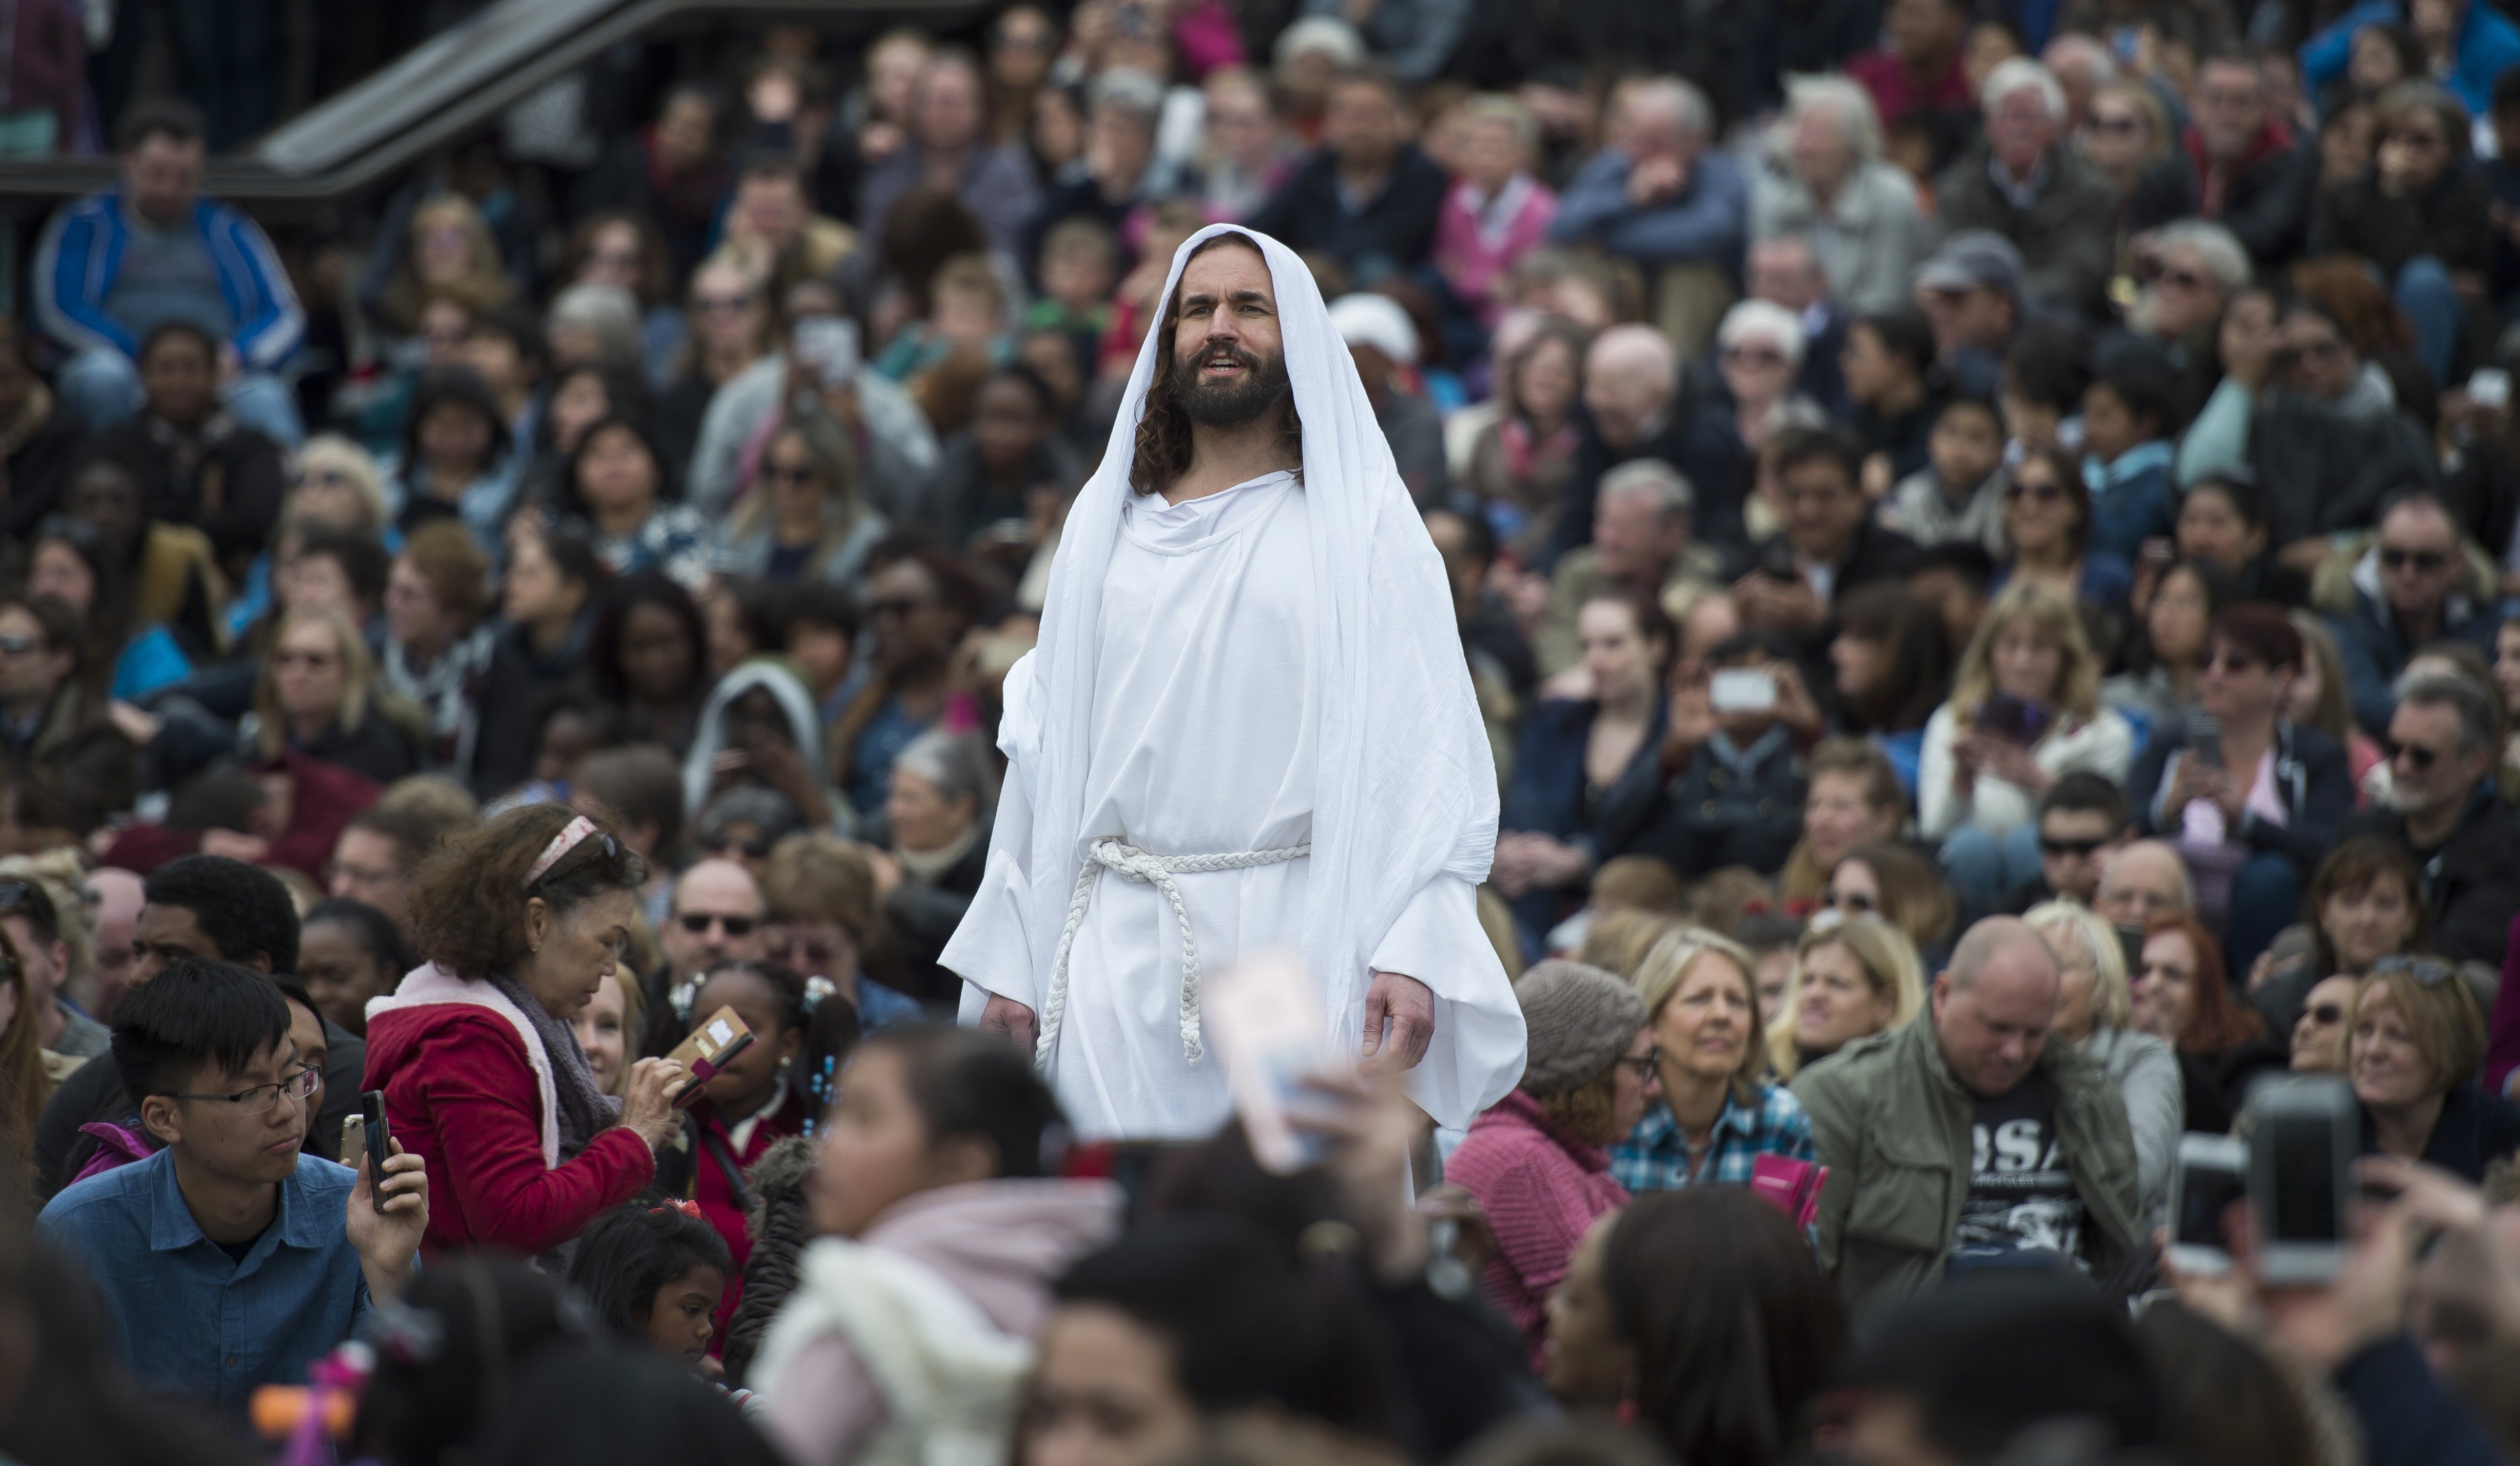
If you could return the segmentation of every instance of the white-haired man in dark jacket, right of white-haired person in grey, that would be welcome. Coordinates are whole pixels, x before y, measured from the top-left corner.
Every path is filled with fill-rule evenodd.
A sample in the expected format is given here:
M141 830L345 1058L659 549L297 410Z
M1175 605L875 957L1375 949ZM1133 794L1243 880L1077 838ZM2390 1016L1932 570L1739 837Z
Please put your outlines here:
M2021 249L2021 295L2099 317L2117 267L2117 194L2061 146L2064 88L2016 55L1978 88L1986 144L1933 184L1943 227L1993 229Z

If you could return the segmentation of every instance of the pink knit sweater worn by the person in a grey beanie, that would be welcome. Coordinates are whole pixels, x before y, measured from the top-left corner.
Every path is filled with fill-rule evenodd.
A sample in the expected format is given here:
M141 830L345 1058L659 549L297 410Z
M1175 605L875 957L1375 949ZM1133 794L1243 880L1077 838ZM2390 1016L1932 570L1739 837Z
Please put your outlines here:
M1560 1131L1540 1113L1540 1101L1517 1088L1469 1123L1444 1179L1487 1212L1497 1257L1479 1285L1522 1330L1532 1373L1540 1373L1550 1292L1565 1282L1567 1259L1593 1222L1628 1204L1628 1189L1610 1179L1610 1151Z

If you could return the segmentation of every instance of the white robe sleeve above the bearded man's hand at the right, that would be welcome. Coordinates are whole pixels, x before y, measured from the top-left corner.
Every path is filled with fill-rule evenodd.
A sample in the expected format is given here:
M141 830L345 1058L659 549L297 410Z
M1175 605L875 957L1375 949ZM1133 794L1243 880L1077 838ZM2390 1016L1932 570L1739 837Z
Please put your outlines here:
M1477 887L1449 872L1419 887L1373 947L1371 967L1434 992L1434 1043L1409 1071L1409 1096L1436 1123L1467 1128L1522 1083L1522 1008L1479 927Z

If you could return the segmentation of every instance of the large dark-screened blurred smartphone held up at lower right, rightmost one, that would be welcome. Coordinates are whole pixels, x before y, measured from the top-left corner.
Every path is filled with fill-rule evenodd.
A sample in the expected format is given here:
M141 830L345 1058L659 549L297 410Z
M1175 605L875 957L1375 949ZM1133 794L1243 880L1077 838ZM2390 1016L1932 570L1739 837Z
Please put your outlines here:
M2336 1076L2298 1076L2248 1096L2248 1207L2258 1277L2328 1282L2346 1262L2361 1108Z

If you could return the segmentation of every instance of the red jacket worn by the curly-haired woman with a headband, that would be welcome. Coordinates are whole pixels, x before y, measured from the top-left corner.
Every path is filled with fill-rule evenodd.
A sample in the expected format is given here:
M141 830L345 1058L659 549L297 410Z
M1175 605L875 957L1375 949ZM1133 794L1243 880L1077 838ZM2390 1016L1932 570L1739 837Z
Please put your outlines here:
M577 1237L655 1176L633 1131L610 1128L562 1166L542 1164L542 1091L514 1025L486 1008L408 1008L368 1020L368 1088L428 1161L428 1247L534 1257Z

